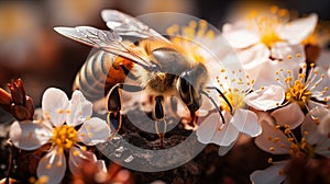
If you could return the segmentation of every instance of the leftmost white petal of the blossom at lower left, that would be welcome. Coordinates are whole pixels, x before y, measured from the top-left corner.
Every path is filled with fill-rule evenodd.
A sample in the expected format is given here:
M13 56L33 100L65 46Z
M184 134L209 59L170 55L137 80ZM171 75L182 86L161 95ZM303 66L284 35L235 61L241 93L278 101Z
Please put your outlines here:
M9 137L15 147L34 150L51 139L52 131L36 122L14 122L10 127Z

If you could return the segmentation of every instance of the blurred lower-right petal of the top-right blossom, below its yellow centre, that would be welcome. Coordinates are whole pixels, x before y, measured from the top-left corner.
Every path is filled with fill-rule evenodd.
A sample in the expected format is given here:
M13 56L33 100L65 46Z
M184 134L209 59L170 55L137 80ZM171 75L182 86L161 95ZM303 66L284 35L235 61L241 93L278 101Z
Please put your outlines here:
M299 54L299 57L297 57L297 54ZM294 60L295 62L302 64L306 59L305 49L301 44L293 45L286 42L277 42L274 44L271 48L271 55L272 58L283 62ZM293 58L288 56L293 56Z

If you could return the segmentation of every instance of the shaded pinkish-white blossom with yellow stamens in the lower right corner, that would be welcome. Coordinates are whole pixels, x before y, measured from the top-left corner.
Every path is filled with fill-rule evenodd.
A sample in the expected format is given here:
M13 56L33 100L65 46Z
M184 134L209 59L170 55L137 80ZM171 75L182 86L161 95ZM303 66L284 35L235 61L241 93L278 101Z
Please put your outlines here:
M271 115L275 118L261 118L263 126L263 133L255 139L255 143L262 150L273 154L289 154L292 159L299 159L309 161L315 157L321 156L330 158L330 129L327 129L326 134L321 131L320 127L329 126L326 120L326 116L329 115L329 110L317 107L314 108L310 114L305 116L301 122L302 113L295 111L297 104L289 104L287 110L282 112L272 113ZM278 111L278 110L277 110ZM292 118L283 118L284 114L292 114L297 112L300 115L292 115ZM321 122L316 122L311 114L319 114ZM278 117L282 116L282 117ZM287 115L288 117L288 115ZM279 124L280 123L280 124ZM277 125L276 125L277 124ZM300 126L301 138L295 137L292 129ZM323 129L324 131L324 129ZM270 158L268 162L271 166L264 170L254 171L250 175L250 180L255 184L276 184L282 183L286 180L286 170L290 160L283 160L273 162ZM306 162L307 163L307 162Z

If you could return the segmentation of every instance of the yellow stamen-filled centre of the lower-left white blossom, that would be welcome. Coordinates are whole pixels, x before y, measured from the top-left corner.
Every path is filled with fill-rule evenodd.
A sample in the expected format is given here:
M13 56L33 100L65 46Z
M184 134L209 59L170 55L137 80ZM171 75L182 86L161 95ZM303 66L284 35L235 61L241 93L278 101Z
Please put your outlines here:
M58 148L69 149L78 141L77 130L68 125L55 127L51 141Z

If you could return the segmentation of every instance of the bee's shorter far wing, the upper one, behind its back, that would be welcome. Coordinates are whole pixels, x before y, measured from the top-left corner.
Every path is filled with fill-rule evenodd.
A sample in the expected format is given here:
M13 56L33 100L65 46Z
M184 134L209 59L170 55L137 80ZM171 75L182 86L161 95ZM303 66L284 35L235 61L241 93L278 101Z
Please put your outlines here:
M136 36L142 38L157 37L162 41L169 42L155 30L150 28L138 19L117 10L102 10L101 16L107 23L107 26L111 30L114 30L120 35Z

